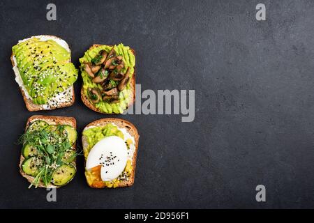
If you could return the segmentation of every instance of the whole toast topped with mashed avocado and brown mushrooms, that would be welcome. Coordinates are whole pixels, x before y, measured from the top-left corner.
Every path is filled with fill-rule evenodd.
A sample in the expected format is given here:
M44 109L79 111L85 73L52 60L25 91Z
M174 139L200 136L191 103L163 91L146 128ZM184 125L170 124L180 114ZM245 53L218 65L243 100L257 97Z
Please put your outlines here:
M135 100L135 51L119 45L92 45L80 58L81 98L95 112L122 114Z

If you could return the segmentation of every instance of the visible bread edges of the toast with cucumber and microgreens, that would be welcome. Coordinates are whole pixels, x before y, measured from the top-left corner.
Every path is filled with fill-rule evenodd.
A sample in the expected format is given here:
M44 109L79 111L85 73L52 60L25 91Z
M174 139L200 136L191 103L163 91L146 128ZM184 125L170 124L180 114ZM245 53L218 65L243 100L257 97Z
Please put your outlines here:
M40 115L36 115L36 116L31 116L29 117L29 119L27 120L27 125L25 127L25 131L27 130L27 128L29 127L29 125L36 120L42 120L45 121L46 123L50 124L50 125L70 125L73 128L76 129L76 120L73 117L64 117L64 116L40 116ZM73 146L73 149L76 148L76 142ZM22 162L25 160L24 156L20 155L20 164L19 164L19 168L20 168L20 174L24 177L27 178L27 180L29 181L29 183L33 182L34 177L33 176L29 176L27 174L24 173L24 171L22 170ZM76 168L76 161L74 160L73 162L71 162L71 164ZM46 187L44 183L40 182L38 184L38 187ZM47 188L58 188L59 186L55 186L52 183L50 185L47 185Z

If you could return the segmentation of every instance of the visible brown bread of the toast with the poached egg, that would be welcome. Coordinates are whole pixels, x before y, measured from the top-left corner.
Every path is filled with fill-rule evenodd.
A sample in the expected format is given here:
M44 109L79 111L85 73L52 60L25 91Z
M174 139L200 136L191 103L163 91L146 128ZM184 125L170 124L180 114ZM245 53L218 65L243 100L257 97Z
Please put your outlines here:
M91 128L91 127L96 127L96 126L104 126L107 125L109 123L114 123L114 125L117 125L118 128L124 128L127 130L127 132L134 138L135 141L135 151L133 153L133 159L132 159L132 167L133 170L128 178L128 180L124 180L121 181L118 184L118 187L128 187L133 185L134 183L134 178L135 178L135 167L136 167L136 157L137 157L137 148L138 148L138 141L140 138L140 135L137 132L137 129L135 128L135 126L123 119L120 118L102 118L102 119L98 119L96 121L93 121L91 123L89 123L84 130L86 130L87 128ZM83 130L83 132L84 132ZM82 145L83 145L83 150L87 148L88 146L88 142L87 139L84 135L82 135ZM86 162L86 160L85 160ZM93 185L89 185L90 187L93 187ZM96 188L96 187L95 187ZM98 188L98 187L97 187Z

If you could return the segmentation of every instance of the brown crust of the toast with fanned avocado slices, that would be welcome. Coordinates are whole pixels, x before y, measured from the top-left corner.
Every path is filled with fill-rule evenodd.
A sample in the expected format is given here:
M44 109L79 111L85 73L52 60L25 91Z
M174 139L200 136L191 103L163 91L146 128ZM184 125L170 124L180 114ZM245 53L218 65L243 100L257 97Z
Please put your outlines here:
M59 38L57 36L52 36L52 35L42 35L42 36L50 36L50 37L53 37L53 38ZM61 38L59 38L59 39L61 39ZM12 66L14 67L15 63L13 61L13 56L14 55L12 53L11 56L10 56L10 60L11 60ZM68 102L63 102L63 103L59 104L58 106L50 106L49 109L45 109L43 107L43 105L36 105L36 104L34 104L33 100L31 100L31 99L26 97L26 95L25 95L25 93L24 93L22 88L20 88L20 91L22 93L25 105L27 107L27 110L29 110L29 112L36 112L36 111L42 111L42 110L53 110L53 109L58 109L58 108L61 108L61 107L70 107L75 102L74 86L72 86L72 100L70 100Z

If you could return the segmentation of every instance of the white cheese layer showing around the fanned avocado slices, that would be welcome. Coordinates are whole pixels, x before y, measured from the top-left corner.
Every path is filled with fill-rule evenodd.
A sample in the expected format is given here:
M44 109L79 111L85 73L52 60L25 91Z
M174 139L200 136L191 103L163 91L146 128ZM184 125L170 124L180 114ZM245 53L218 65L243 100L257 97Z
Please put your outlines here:
M61 38L57 38L55 36L44 36L44 35L40 35L40 36L33 36L31 38L39 38L40 41L46 41L46 40L54 40L56 43L58 43L59 45L61 45L61 47L63 47L64 49L66 49L66 51L70 52L70 47L68 47L68 43L66 43L66 41L62 40ZM19 43L25 42L31 38L26 38L24 40L19 40ZM17 84L20 86L20 88L22 89L22 91L25 94L25 97L27 99L31 99L31 96L29 95L27 89L24 86L21 74L20 74L20 70L19 68L17 68L17 61L15 56L13 55L13 62L14 62L14 66L13 66L13 71L15 73L15 82L17 82ZM58 105L61 105L63 102L69 102L72 98L72 91L73 91L73 86L70 86L68 89L66 89L66 91L63 91L57 95L54 95L53 98L50 98L47 102L46 105L42 105L43 109L50 109L50 107L55 107ZM66 97L68 96L68 97Z

